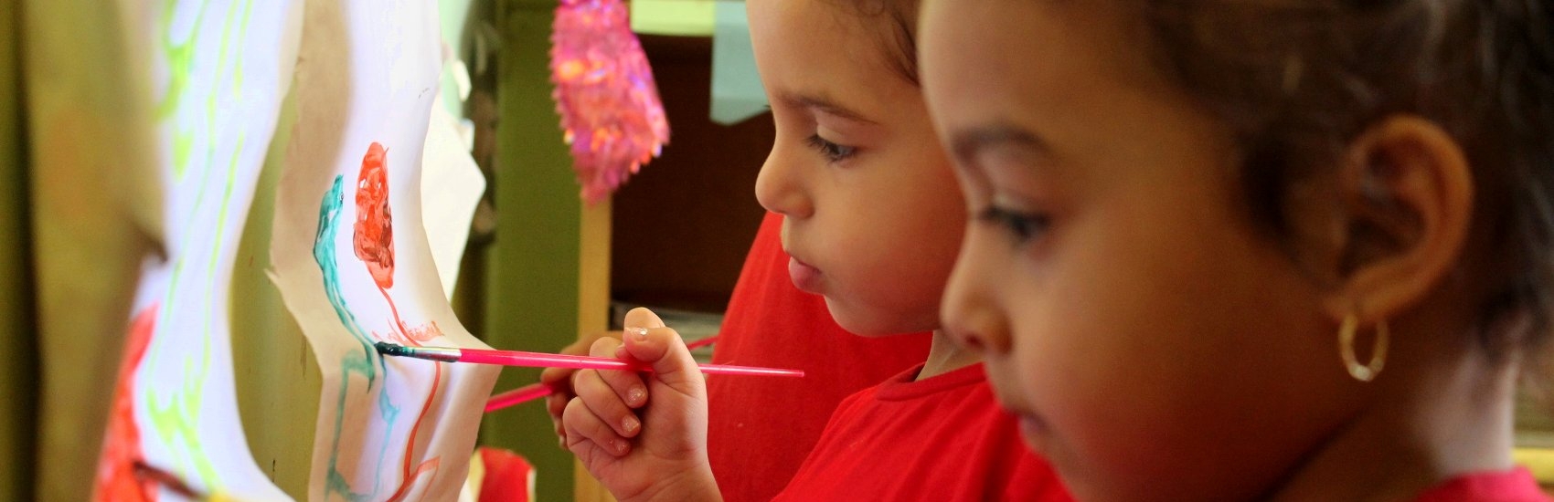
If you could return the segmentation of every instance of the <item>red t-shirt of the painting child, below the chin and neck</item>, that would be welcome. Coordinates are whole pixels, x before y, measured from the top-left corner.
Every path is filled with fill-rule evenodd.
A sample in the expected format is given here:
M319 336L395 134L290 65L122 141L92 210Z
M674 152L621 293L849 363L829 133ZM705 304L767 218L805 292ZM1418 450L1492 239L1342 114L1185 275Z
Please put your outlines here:
M1071 500L998 407L982 364L848 397L777 500Z

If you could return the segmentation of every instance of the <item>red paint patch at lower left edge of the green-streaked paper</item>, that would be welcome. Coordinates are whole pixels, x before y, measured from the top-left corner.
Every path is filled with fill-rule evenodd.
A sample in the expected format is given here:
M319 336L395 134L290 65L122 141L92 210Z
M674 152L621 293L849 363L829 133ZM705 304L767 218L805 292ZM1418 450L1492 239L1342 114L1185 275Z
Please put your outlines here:
M157 325L157 305L152 304L129 322L124 341L124 359L118 366L118 386L113 389L113 407L109 415L103 459L98 460L95 500L155 500L157 482L138 476L137 465L145 460L140 451L140 428L135 425L135 369L151 347L151 332Z

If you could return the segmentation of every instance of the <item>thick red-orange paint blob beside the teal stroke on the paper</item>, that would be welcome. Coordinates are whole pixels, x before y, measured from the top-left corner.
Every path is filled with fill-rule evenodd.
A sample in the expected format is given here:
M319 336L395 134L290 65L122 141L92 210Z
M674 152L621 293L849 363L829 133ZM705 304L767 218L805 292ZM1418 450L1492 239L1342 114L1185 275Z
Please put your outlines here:
M379 288L393 287L393 215L388 211L388 150L373 141L356 178L356 257Z

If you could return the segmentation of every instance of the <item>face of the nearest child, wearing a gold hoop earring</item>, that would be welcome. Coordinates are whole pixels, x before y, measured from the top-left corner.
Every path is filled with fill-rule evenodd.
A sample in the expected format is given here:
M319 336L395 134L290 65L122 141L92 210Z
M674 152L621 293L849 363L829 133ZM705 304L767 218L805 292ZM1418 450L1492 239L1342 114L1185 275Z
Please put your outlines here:
M1231 133L1116 5L925 6L925 95L976 218L945 328L1082 499L1251 499L1355 386L1240 201Z

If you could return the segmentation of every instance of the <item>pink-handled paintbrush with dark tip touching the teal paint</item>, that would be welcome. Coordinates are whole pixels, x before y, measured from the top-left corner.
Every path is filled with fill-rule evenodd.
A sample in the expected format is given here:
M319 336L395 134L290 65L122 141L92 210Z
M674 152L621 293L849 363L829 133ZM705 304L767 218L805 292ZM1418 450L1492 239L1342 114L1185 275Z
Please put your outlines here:
M524 367L572 367L572 369L603 369L603 370L636 370L651 372L642 363L631 363L611 358L522 352L522 350L486 350L458 347L406 347L390 342L378 342L378 353L387 356L430 359L443 363L474 363ZM803 376L803 370L732 366L732 364L699 364L707 375L751 375L751 376Z

